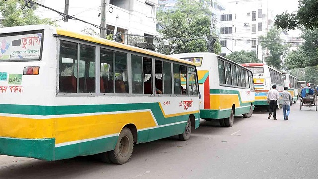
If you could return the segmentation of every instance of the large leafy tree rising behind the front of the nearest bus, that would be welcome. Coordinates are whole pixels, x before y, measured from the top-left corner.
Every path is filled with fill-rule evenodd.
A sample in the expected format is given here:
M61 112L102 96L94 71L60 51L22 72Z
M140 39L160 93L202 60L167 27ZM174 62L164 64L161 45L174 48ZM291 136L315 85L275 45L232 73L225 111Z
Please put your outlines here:
M162 28L159 32L164 38L171 38L170 53L208 52L211 46L215 53L220 53L219 40L210 38L211 16L203 3L189 0L178 0L172 10L158 10L157 22Z

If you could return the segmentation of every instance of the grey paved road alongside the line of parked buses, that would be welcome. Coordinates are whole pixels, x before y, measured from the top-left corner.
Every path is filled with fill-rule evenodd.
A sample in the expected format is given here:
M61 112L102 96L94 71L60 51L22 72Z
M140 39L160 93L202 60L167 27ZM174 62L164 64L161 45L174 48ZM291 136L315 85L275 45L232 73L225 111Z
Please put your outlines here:
M120 166L0 156L0 179L318 179L318 111L293 105L288 121L282 112L238 117L232 128L201 121L190 140L139 144Z

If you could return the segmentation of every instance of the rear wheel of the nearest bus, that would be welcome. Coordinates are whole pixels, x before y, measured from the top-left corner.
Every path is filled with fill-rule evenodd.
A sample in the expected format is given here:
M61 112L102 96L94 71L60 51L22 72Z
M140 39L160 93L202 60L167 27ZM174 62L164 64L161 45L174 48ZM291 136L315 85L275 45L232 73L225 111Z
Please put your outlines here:
M125 164L130 160L134 149L133 133L124 127L119 136L113 151L109 151L109 159L114 164Z

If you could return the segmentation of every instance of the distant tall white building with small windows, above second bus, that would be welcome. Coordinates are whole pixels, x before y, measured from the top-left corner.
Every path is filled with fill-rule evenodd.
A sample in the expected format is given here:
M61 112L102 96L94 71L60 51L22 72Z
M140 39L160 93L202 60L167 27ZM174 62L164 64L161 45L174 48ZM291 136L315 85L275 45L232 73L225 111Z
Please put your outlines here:
M246 50L255 52L263 60L266 53L261 48L259 36L266 35L274 24L268 0L228 0L226 8L218 22L221 55Z

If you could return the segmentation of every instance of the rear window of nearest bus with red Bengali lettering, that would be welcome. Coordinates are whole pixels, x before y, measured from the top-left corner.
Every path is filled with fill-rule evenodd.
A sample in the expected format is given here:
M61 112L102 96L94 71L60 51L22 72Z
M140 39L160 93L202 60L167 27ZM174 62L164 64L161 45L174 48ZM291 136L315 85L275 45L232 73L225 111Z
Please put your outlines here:
M0 34L0 62L41 59L43 31Z

